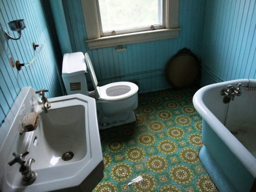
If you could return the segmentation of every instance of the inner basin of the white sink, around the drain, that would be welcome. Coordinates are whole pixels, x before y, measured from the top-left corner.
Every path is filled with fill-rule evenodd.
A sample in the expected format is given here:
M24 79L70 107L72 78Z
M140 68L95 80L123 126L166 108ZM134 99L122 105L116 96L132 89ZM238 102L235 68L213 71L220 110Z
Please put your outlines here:
M30 154L38 151L33 168L46 168L77 162L86 157L86 122L83 105L68 106L40 113L41 120L34 133ZM62 155L72 152L70 160Z

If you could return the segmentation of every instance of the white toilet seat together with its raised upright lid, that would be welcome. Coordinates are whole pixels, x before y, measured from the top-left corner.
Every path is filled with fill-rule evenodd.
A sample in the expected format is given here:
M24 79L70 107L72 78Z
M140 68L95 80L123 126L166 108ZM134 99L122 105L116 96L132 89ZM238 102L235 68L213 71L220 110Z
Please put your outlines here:
M131 82L114 82L99 87L88 53L85 53L84 56L96 93L96 99L105 101L116 101L129 98L136 94L136 92L138 92L138 86Z

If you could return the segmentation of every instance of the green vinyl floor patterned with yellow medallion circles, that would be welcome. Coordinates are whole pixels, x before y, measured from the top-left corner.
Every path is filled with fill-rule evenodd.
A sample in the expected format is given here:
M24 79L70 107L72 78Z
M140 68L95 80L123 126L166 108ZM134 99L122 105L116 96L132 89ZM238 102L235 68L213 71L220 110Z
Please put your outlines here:
M94 192L218 192L198 157L197 90L139 94L136 122L101 130L105 170ZM143 180L128 186L137 176Z

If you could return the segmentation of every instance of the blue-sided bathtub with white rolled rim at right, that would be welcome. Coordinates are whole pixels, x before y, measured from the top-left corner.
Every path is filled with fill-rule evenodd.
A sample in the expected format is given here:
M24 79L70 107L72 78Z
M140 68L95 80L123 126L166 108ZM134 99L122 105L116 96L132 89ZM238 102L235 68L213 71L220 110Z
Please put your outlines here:
M242 83L242 95L224 104L220 91ZM198 90L193 104L202 116L200 160L220 192L249 192L256 177L256 80L216 83Z

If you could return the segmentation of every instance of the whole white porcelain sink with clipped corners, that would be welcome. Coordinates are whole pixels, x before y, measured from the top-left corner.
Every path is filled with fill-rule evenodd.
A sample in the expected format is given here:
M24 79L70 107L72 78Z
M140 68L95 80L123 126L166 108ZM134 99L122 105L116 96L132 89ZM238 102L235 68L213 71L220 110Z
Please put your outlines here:
M92 176L97 184L103 178L103 158L93 98L73 94L49 98L47 113L31 87L22 88L0 128L0 191L52 191L86 185ZM40 115L34 131L19 134L24 116ZM35 160L34 183L24 186L18 163L9 166L13 152Z

